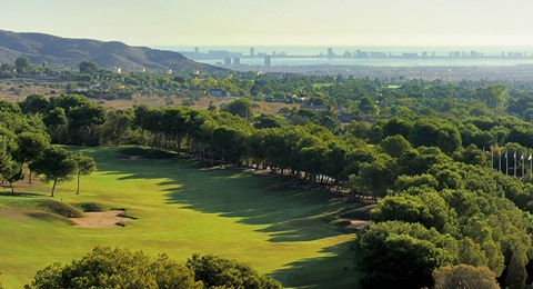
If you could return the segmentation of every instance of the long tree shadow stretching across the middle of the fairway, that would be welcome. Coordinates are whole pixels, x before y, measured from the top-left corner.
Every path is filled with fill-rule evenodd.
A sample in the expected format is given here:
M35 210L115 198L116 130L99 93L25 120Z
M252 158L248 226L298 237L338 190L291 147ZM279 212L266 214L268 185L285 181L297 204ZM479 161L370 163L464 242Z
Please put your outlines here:
M109 153L104 153L109 155ZM343 235L329 225L350 207L342 199L322 191L305 191L280 185L273 176L241 169L207 168L188 160L119 160L117 155L95 156L104 173L128 175L121 180L161 179L168 203L183 208L239 218L244 225L259 225L272 242L310 241Z

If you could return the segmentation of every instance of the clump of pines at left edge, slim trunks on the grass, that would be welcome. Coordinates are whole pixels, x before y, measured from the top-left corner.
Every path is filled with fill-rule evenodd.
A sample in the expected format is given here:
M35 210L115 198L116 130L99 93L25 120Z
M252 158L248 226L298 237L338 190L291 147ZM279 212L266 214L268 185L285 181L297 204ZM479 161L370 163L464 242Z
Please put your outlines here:
M33 173L52 182L51 196L59 182L78 179L95 170L92 158L71 153L51 144L44 122L39 114L23 114L18 104L0 101L0 180L14 193L13 182L24 177L31 182Z

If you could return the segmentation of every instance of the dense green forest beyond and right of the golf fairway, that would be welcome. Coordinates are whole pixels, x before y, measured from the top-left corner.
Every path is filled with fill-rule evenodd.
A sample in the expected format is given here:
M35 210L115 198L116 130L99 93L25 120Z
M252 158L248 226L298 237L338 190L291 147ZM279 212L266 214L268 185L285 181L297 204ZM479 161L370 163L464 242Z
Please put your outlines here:
M102 77L91 67L97 72L62 77L87 77L77 86L90 86ZM39 160L60 150L44 149L50 141L173 150L375 202L373 223L353 241L363 288L432 287L459 270L504 288L531 283L533 83L137 72L107 81L130 86L135 77L139 87L157 80L160 91L242 98L208 110L107 110L90 93L0 101L4 182L28 173L26 167L44 173ZM301 108L255 114L255 100ZM60 167L69 166L78 167Z

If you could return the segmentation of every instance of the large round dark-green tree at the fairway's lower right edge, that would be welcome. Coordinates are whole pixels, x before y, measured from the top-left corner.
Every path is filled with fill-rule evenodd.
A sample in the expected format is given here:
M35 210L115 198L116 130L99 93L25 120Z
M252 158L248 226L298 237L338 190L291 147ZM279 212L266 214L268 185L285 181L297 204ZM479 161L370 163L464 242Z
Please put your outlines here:
M368 226L354 243L353 260L363 273L362 288L422 288L433 285L433 270L453 265L457 243L420 223L399 221Z

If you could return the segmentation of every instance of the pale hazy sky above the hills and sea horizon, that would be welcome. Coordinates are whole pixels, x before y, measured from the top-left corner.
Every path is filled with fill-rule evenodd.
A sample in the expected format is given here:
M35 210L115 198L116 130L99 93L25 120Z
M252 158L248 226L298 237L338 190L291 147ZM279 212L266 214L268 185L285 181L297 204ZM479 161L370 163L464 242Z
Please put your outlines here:
M12 0L0 29L134 46L533 46L529 0Z

